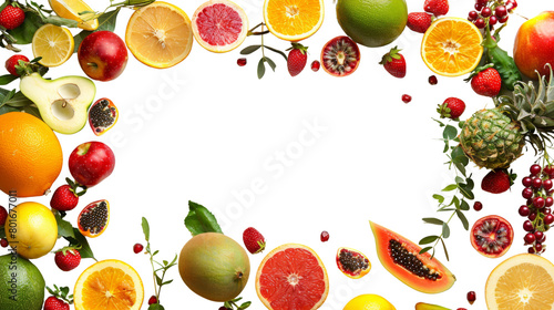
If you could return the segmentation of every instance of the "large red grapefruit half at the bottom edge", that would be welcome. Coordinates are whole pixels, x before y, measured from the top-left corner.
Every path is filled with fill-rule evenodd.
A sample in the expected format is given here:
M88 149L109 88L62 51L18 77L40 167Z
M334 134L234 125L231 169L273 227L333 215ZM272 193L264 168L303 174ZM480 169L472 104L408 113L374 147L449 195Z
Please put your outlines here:
M259 265L256 292L270 310L315 310L329 293L329 278L312 249L287 244L270 251Z

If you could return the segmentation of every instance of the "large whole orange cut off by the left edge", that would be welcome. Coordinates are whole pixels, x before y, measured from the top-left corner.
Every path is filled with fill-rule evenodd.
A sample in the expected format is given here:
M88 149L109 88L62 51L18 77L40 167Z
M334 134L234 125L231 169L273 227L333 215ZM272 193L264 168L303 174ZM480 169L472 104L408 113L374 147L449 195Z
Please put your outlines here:
M38 117L10 112L0 115L0 190L17 197L41 196L60 175L62 147Z

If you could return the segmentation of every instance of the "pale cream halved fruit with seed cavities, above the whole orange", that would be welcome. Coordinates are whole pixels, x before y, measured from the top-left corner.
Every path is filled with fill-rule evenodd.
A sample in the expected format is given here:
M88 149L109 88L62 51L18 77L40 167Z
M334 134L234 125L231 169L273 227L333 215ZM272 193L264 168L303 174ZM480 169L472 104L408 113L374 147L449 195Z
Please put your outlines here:
M45 80L39 73L21 78L21 93L39 108L40 116L53 131L74 134L88 122L96 86L83 76Z

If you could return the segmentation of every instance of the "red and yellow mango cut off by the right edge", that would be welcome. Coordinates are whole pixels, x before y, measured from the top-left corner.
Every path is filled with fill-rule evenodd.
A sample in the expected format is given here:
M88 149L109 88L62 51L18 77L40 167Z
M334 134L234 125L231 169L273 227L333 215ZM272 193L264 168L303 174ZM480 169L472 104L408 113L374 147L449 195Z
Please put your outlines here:
M524 22L514 42L514 61L521 73L530 79L548 76L550 63L554 66L554 11L545 11Z

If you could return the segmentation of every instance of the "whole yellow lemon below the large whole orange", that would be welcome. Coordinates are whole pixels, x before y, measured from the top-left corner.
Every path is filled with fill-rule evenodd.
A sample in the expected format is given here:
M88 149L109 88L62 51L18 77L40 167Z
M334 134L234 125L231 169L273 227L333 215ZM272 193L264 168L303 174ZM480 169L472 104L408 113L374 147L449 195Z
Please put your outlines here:
M39 203L22 203L11 209L4 229L10 246L28 259L47 255L58 239L54 215Z

